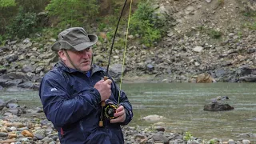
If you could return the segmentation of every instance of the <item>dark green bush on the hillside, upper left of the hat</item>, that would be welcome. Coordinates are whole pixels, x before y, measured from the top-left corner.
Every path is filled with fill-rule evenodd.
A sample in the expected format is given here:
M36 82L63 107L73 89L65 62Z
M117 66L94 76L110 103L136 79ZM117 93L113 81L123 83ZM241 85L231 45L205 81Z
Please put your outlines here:
M25 13L23 8L20 7L18 14L12 20L9 26L6 26L10 37L17 36L18 38L28 37L33 33L35 26L37 26L37 14L32 12Z

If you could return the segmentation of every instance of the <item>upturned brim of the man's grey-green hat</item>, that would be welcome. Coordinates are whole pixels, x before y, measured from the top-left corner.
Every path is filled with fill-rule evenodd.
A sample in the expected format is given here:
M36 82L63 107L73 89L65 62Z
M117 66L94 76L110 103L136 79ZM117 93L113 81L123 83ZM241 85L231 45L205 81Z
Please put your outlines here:
M86 48L93 46L96 42L98 42L98 37L94 34L88 35L90 38L90 42L82 42L76 46L72 46L69 42L66 41L58 41L55 42L53 46L51 46L51 50L58 51L58 50L85 50ZM65 48L65 49L63 49Z

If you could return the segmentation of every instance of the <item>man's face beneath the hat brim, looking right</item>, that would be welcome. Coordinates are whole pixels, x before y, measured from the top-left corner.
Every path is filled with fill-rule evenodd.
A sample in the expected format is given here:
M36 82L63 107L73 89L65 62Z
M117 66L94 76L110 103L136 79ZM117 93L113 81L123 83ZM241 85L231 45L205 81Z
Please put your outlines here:
M76 68L83 72L90 70L93 54L91 47L82 51L66 50L66 52L69 54L70 59ZM58 55L62 58L62 61L66 64L66 66L75 69L63 50L59 50Z

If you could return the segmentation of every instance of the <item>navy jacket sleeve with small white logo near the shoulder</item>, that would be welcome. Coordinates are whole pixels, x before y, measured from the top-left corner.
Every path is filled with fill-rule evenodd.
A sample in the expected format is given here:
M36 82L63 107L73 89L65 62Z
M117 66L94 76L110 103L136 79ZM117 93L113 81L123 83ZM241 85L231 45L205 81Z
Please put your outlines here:
M46 117L54 126L77 122L98 109L101 101L98 90L88 88L71 96L69 89L66 79L59 72L51 71L42 79L39 96Z

